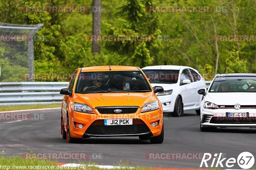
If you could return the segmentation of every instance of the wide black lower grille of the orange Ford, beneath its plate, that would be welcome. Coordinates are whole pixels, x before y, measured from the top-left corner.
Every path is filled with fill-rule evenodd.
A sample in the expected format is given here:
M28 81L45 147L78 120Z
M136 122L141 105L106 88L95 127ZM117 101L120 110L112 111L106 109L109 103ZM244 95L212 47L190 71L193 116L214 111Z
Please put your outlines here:
M104 120L94 121L85 131L88 135L131 135L148 133L150 129L140 119L133 119L132 125L111 125L105 126Z

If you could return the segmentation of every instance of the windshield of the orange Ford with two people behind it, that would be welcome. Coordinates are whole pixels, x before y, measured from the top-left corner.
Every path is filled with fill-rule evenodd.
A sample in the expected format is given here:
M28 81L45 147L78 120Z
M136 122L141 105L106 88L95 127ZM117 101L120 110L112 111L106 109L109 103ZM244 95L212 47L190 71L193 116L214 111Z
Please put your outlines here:
M81 72L76 93L151 92L140 71Z

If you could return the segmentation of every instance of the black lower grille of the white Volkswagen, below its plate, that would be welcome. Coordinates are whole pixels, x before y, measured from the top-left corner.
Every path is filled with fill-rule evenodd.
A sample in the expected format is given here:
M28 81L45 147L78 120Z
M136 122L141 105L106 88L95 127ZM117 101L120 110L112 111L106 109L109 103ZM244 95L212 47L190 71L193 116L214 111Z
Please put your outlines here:
M256 117L212 117L210 123L216 124L253 124L256 123Z

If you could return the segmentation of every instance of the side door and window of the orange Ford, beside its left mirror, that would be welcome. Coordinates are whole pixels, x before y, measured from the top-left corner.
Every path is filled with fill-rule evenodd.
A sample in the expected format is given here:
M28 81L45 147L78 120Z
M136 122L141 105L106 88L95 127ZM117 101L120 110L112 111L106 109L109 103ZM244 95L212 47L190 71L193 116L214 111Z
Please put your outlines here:
M74 89L76 74L77 74L77 70L74 72L73 76L71 77L71 79L69 81L68 88L70 91L73 91L73 89ZM62 117L63 117L63 122L64 122L65 127L67 124L68 103L70 103L70 101L71 101L71 97L68 95L64 95L64 97L62 99Z

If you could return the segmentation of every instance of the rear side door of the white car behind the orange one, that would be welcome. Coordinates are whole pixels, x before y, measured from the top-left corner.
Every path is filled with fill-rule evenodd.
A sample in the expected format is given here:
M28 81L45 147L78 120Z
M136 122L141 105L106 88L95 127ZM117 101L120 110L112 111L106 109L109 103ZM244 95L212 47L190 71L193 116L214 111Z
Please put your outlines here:
M197 93L198 90L204 89L205 88L205 81L201 76L193 69L189 69L191 72L191 75L194 79L194 87L196 88L196 94L195 94L195 99L196 99L196 107L200 107L203 95L200 95Z

